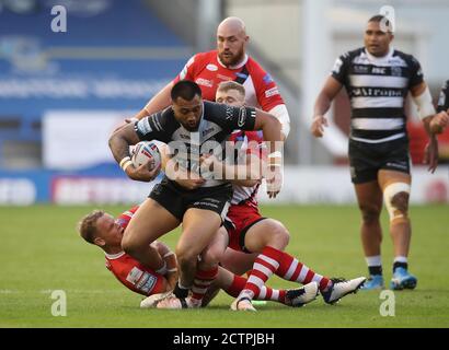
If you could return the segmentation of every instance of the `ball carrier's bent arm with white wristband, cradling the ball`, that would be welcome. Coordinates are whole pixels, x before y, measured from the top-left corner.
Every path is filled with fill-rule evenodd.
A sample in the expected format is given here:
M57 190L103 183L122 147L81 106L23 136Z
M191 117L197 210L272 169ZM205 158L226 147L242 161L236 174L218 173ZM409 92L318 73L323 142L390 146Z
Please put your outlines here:
M129 145L136 144L139 141L140 138L136 132L135 124L133 122L115 130L110 137L108 144L115 161L120 165L129 178L150 182L157 176L159 168L151 166L150 163L135 167L130 159Z

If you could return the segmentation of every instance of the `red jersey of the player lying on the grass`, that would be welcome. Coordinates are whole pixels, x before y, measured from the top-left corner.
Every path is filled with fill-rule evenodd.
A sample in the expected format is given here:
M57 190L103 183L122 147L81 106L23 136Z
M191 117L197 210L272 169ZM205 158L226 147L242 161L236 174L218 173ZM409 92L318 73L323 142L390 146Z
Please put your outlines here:
M117 218L116 222L126 229L138 208L134 207L125 211ZM106 268L131 291L147 296L165 292L165 278L154 270L145 267L125 252L114 255L105 254L105 258Z

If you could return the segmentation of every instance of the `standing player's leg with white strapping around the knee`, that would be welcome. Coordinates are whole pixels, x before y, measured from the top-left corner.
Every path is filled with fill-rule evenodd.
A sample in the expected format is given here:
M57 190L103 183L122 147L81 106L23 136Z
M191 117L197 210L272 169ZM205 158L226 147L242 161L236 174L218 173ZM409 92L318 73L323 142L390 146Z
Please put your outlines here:
M393 279L391 288L414 289L417 280L407 271L408 250L412 236L408 218L411 175L402 172L381 170L379 184L383 190L385 208L390 217L390 234L394 245Z

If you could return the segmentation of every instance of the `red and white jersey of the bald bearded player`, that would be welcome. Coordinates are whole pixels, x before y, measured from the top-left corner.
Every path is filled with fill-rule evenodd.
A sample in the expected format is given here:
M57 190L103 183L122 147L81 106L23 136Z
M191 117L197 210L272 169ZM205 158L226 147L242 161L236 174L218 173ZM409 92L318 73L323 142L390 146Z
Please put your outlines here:
M221 82L233 80L245 88L246 106L269 112L285 104L272 77L246 55L240 65L227 68L218 59L217 50L196 54L187 61L174 82L180 80L196 82L202 89L203 98L207 101L215 101L217 88Z

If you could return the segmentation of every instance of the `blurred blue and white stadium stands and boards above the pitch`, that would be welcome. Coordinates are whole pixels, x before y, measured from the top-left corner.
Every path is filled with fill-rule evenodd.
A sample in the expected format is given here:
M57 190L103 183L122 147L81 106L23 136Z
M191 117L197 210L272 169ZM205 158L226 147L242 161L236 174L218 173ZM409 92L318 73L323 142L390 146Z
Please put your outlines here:
M50 9L68 10L53 33ZM444 0L391 1L394 46L415 55L437 98L449 79ZM148 186L113 163L107 136L177 74L215 47L217 24L241 16L250 54L278 82L292 131L286 186L277 202L354 202L347 166L349 113L342 95L322 140L309 135L312 106L335 58L362 45L379 1L356 0L15 0L0 1L0 203L136 202ZM424 11L425 10L425 11ZM417 26L416 23L419 23ZM421 165L426 136L410 104L413 202L448 202L448 168ZM449 162L449 131L440 140ZM332 182L330 180L332 178ZM307 184L307 185L306 185Z

